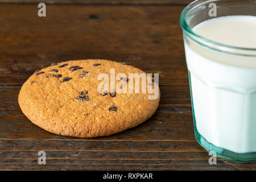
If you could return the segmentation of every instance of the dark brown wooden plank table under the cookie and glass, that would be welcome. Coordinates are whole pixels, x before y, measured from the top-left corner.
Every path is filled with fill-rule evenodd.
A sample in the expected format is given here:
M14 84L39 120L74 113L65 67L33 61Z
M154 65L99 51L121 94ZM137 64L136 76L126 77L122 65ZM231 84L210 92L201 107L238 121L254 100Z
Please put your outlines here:
M44 18L37 1L0 2L0 169L256 169L221 159L209 165L195 140L179 25L190 1L56 0ZM160 73L158 110L110 137L63 137L35 126L19 109L23 82L36 69L76 59L126 61ZM46 165L38 164L42 150Z

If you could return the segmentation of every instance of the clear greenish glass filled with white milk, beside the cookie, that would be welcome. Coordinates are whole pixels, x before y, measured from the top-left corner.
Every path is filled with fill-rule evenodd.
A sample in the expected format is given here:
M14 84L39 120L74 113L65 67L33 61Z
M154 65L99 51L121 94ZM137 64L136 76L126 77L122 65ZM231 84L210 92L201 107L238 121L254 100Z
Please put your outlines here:
M256 1L195 1L180 16L197 142L256 161Z

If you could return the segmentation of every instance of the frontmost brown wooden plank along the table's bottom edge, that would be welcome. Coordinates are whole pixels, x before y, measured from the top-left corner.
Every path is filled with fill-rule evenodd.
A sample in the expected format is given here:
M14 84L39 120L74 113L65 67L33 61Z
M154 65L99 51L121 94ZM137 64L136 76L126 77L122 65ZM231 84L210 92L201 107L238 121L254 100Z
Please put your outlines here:
M46 165L38 164L38 152L0 152L0 169L187 169L255 170L256 163L237 164L217 159L209 165L207 152L70 152L46 151Z

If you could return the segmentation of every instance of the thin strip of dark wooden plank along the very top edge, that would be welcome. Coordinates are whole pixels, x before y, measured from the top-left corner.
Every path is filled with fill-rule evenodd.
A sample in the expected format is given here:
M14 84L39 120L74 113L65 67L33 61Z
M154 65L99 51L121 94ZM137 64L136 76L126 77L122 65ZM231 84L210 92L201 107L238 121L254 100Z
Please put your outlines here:
M79 4L79 5L188 5L192 1L189 0L0 0L0 3L33 3L40 2L46 4Z

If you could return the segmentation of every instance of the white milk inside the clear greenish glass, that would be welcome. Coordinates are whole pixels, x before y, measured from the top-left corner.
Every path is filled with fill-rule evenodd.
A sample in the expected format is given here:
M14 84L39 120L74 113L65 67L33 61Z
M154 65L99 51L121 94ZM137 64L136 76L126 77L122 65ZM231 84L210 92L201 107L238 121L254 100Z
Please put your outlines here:
M214 42L256 48L256 16L223 16L192 29ZM256 57L185 42L196 129L209 143L256 152Z

